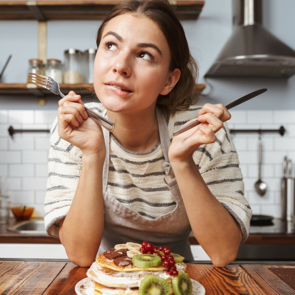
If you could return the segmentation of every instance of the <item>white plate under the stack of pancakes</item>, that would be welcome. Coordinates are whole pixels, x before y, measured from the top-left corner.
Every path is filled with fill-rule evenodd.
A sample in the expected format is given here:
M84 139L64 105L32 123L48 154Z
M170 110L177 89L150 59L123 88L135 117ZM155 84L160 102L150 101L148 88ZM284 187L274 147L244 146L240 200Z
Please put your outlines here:
M191 279L193 285L192 295L205 295L205 288L199 282ZM94 283L90 278L83 278L75 286L75 292L78 295L94 295Z

